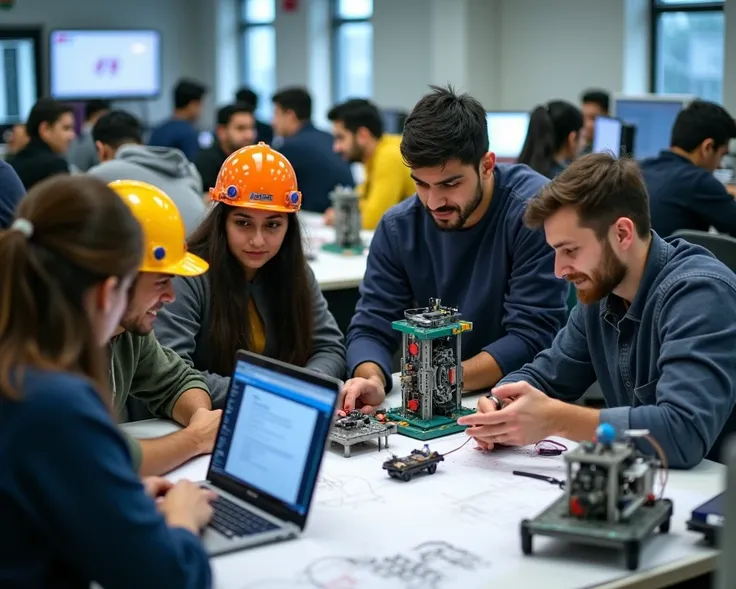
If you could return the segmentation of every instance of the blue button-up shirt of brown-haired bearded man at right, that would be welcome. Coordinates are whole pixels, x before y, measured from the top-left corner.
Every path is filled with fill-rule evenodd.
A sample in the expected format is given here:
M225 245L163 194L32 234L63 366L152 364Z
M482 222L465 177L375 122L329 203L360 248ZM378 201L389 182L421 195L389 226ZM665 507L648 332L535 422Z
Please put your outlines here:
M501 384L526 381L572 403L597 380L601 423L649 430L670 466L690 468L733 409L735 350L736 275L706 249L655 233L628 310L614 294L578 303L552 347Z

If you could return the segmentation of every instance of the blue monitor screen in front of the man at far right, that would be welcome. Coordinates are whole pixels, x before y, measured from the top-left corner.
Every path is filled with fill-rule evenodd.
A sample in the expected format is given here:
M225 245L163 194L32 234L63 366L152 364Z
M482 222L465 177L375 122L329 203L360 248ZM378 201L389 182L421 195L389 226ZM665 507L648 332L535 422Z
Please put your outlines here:
M681 95L614 98L613 116L636 127L633 151L637 159L655 157L669 148L675 119L693 99Z

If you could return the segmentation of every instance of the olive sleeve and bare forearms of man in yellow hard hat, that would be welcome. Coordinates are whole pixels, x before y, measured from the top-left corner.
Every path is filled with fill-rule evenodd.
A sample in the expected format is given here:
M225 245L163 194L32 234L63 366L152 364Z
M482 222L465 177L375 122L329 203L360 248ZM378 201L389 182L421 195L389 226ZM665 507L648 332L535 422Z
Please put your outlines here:
M211 411L203 377L176 352L161 346L153 334L143 344L131 395L146 402L154 415L178 417L185 426L168 436L140 440L142 475L169 472L212 451L222 412Z

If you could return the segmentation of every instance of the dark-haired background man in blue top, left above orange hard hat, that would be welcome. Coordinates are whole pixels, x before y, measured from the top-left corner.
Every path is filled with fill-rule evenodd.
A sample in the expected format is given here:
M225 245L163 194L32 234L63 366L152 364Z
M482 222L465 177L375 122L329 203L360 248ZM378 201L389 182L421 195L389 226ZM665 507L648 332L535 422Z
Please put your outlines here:
M178 149L193 160L199 151L197 120L207 88L193 80L181 80L174 88L174 115L153 130L149 145Z

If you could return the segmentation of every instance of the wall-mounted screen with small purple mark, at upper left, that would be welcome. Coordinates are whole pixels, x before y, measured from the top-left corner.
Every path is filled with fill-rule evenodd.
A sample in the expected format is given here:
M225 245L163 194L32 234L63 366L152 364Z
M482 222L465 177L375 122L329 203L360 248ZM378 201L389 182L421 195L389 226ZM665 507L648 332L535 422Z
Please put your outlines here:
M161 35L154 30L55 30L49 43L51 96L58 100L156 98Z

